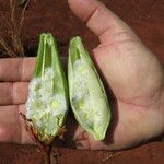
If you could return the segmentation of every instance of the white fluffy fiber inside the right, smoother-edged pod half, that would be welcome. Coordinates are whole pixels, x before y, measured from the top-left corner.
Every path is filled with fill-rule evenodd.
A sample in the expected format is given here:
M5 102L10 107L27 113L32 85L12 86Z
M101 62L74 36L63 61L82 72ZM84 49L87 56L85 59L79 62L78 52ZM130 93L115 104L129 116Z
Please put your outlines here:
M103 115L101 109L95 107L95 101L90 96L89 81L92 81L90 73L93 73L92 68L85 61L85 59L79 59L73 65L73 82L72 84L72 99L75 106L77 113L90 127L94 126L94 121L99 124ZM94 118L94 119L91 119Z

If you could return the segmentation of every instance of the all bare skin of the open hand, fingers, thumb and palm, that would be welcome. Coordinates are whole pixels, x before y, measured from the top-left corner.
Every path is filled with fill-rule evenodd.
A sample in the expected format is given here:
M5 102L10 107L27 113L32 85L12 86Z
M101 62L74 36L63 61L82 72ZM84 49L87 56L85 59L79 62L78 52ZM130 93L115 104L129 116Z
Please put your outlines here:
M164 133L164 69L131 28L96 0L68 0L99 38L93 59L110 99L113 120L105 141L95 141L68 121L66 142L78 149L122 150ZM25 113L35 58L0 60L0 141L33 143L19 112ZM14 71L13 71L14 70ZM70 140L71 138L71 140Z

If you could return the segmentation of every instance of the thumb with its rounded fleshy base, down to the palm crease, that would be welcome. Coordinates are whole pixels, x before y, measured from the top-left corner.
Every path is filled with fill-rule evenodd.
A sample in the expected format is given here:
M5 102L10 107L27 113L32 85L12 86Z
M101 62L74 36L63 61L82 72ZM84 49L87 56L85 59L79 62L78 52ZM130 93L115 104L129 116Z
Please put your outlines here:
M162 83L163 71L155 56L103 3L97 0L68 1L75 15L101 40L101 45L93 51L93 58L115 96L124 102L131 102L144 95L147 98L133 103L145 105Z

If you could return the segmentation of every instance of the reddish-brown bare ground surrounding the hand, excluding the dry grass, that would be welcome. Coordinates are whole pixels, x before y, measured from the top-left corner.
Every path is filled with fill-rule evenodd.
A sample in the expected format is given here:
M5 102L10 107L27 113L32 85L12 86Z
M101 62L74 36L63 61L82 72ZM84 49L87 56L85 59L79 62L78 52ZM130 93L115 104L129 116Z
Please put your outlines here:
M144 44L164 63L164 0L101 0L126 21ZM0 0L0 16L5 12L8 0ZM28 56L35 56L38 35L51 32L58 39L60 52L68 56L69 39L83 37L89 50L98 45L97 37L70 11L67 0L32 0L23 24L23 42ZM122 151L108 159L106 151L81 151L56 148L52 164L164 164L164 142L151 142ZM37 147L0 143L0 164L43 164Z

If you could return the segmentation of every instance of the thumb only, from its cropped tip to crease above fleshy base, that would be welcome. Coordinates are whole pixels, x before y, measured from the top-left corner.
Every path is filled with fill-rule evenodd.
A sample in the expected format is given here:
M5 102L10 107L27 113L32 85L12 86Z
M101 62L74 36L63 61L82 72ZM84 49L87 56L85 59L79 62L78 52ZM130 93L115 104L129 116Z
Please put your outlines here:
M97 0L68 0L68 2L74 14L99 36L102 43L117 42L121 35L130 39L131 34L134 35L126 23Z

